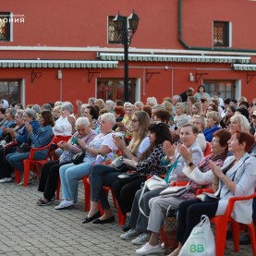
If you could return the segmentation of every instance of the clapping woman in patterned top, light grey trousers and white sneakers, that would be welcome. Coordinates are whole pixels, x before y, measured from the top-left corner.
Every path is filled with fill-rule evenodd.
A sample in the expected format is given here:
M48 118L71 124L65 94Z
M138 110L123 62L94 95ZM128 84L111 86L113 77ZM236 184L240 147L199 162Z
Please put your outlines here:
M177 209L177 206L181 201L194 199L196 197L197 189L209 188L212 186L213 172L210 170L210 162L214 161L218 166L222 166L224 164L227 155L227 141L230 140L231 135L226 130L218 130L213 136L212 153L202 159L200 164L195 163L195 149L193 149L192 153L186 146L187 143L195 141L195 138L190 137L190 141L188 140L185 142L185 145L178 147L177 151L179 152L181 159L184 161L182 174L189 178L189 186L193 189L180 197L169 196L167 198L163 198L159 196L150 200L150 206L152 209L149 218L148 230L152 231L152 234L149 243L145 244L140 250L137 250L137 252L153 252L161 248L158 245L158 238L161 225L164 221L165 211L168 207L171 206L172 208ZM149 213L149 208L147 213Z

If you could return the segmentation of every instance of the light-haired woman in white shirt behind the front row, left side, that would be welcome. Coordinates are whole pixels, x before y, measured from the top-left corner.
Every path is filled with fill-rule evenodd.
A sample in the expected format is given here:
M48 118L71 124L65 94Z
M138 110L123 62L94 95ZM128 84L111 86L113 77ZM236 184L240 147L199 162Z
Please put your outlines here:
M62 114L55 121L54 133L56 136L72 135L72 125L69 123L67 116L71 116L74 112L73 104L68 102L61 105Z

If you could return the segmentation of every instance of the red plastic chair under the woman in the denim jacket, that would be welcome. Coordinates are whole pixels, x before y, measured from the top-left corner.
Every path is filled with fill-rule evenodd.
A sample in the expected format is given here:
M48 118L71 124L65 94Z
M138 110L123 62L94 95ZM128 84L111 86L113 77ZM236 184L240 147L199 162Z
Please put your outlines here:
M42 148L32 148L30 150L30 157L28 159L23 160L23 165L24 165L24 173L23 173L23 182L24 182L24 187L28 187L29 185L29 178L30 178L30 170L35 170L37 173L37 176L40 177L40 165L44 165L45 163L48 162L48 155L46 155L44 160L35 160L33 159L35 152L41 152L46 149L50 149L53 141L55 140L55 135L53 136L52 140L44 147ZM35 167L35 169L34 169ZM15 181L18 183L20 182L20 174L18 170L15 170Z

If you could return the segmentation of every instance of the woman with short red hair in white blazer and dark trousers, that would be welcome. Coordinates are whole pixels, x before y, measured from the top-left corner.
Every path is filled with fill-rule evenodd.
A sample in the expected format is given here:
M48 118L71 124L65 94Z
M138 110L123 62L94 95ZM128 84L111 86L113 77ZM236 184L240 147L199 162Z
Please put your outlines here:
M171 256L178 255L193 227L200 223L202 214L209 218L223 215L230 198L248 196L254 192L256 187L256 159L248 153L253 143L254 138L250 133L238 131L228 140L228 150L234 155L226 158L222 168L213 162L210 163L210 168L213 171L214 195L219 200L207 202L193 200L179 204L177 215L178 248L170 254ZM236 202L233 210L235 221L250 224L251 203L252 200Z

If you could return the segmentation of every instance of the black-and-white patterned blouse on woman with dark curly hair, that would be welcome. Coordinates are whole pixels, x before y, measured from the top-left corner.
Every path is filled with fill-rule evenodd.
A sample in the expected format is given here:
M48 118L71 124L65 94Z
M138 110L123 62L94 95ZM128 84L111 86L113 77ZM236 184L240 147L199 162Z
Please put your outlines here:
M144 160L139 161L135 172L139 173L140 176L166 174L166 166L161 165L164 155L163 144L155 146Z

